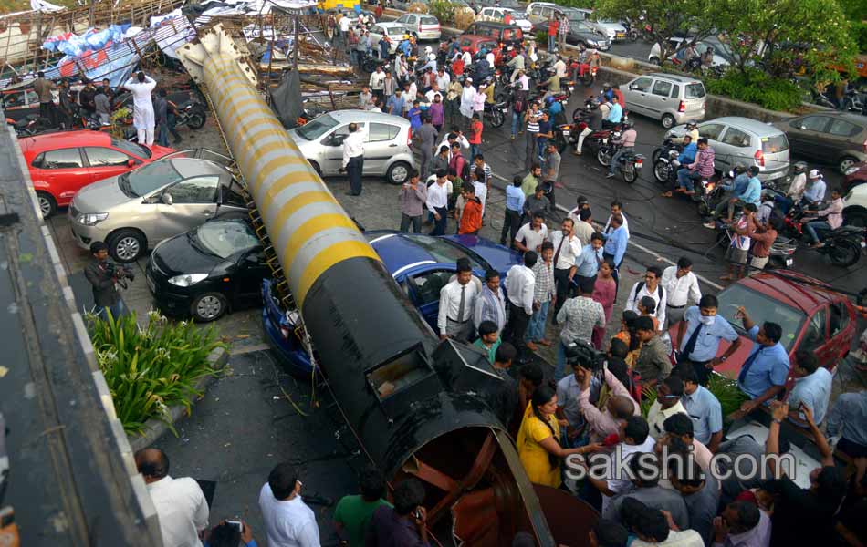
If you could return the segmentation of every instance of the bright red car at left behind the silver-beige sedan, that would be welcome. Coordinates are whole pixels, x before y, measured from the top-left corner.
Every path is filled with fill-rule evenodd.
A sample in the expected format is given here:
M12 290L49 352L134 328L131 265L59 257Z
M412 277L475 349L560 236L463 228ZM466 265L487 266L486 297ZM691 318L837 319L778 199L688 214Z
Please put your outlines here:
M79 189L139 167L174 150L153 145L149 150L119 140L105 131L59 131L18 139L24 152L39 209L44 217L72 201Z

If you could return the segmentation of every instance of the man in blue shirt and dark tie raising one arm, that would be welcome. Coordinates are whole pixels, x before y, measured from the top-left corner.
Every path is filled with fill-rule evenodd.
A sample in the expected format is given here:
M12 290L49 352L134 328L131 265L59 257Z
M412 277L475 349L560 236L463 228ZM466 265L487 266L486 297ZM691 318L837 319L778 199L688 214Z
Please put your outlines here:
M744 323L744 330L756 344L741 366L737 375L737 387L746 393L750 400L740 406L749 413L782 393L789 377L789 354L779 343L783 329L776 323L766 321L761 328L747 314L747 308L737 308Z

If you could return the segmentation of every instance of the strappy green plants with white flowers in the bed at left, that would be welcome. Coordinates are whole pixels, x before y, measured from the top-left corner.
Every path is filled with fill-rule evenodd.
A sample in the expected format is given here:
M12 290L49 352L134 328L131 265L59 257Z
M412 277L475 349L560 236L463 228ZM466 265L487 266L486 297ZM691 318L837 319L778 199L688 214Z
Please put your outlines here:
M152 418L169 423L169 408L176 405L189 413L187 397L201 395L194 387L196 381L216 372L208 366L207 356L224 346L213 326L169 323L155 312L148 318L147 328L141 329L135 315L105 321L87 316L99 369L128 433L141 434ZM171 424L170 428L177 435Z

